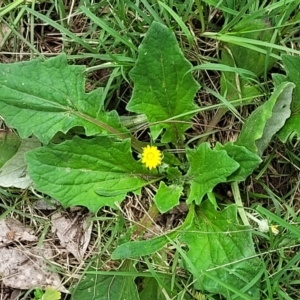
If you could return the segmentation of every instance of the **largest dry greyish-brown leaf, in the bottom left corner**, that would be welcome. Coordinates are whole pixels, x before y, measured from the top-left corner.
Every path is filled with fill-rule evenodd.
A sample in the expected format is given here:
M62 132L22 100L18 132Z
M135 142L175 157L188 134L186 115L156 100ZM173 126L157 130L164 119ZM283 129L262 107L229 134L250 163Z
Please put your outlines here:
M6 287L28 290L31 288L53 287L60 292L69 293L61 284L58 274L50 272L46 259L53 256L48 245L31 249L0 249L0 276Z

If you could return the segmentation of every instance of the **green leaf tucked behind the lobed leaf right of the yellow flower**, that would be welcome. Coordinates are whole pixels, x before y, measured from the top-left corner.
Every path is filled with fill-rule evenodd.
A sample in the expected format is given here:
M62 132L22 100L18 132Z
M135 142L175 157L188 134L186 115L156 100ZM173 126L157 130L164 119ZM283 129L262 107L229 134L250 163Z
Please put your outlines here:
M235 145L229 142L225 145L216 144L216 150L225 150L229 157L239 163L240 167L233 172L227 181L243 181L261 163L261 158L246 147Z

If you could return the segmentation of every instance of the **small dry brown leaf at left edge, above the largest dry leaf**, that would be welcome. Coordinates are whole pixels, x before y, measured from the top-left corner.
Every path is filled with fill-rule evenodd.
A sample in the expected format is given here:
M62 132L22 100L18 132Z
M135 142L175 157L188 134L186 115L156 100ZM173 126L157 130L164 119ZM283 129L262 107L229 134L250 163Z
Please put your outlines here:
M0 220L0 247L14 241L35 242L38 238L33 235L32 228L25 226L20 221L6 218Z

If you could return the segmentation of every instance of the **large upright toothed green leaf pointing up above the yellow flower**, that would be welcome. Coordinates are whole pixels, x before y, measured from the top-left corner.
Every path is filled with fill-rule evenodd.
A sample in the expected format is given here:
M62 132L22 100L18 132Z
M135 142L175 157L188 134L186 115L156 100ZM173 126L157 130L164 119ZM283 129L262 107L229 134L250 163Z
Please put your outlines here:
M134 90L127 109L144 113L150 123L155 123L150 126L154 140L165 129L162 142L177 144L191 127L187 122L195 114L190 112L197 109L193 99L199 89L189 72L191 67L174 33L153 22L139 47L136 65L129 73ZM176 116L176 120L164 122Z

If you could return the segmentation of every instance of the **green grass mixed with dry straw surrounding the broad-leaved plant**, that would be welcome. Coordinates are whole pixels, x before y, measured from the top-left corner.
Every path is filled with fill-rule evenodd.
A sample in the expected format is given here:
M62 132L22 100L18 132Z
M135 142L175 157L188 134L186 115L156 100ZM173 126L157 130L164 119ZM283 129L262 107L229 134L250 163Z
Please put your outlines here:
M136 135L145 137L145 119L140 116L141 120L135 120L125 111L133 88L128 72L138 57L139 44L150 24L154 20L164 23L175 32L183 53L192 62L195 79L203 83L195 99L201 107L193 119L193 130L186 136L186 145L203 141L225 143L235 140L242 123L256 106L268 98L273 88L271 73L284 74L281 55L300 54L298 2L110 0L93 3L82 0L70 1L65 6L62 0L3 1L0 6L0 62L11 63L36 57L45 59L66 53L70 64L87 66L86 89L90 91L104 86L105 108L116 109L121 118L133 122L130 128ZM235 31L235 26L242 21L256 19L269 22L268 29L273 30L270 41L245 36L257 32L251 27L242 33ZM266 54L264 70L255 78L261 90L259 97L253 99L246 95L229 101L226 93L220 93L221 72L234 71L239 78L253 80L251 69L219 63L222 51L228 45L239 45ZM272 58L276 63L269 69L268 61ZM140 123L136 126L135 122ZM1 128L8 131L4 123ZM255 231L253 237L263 268L249 286L260 281L261 299L300 299L300 165L297 138L291 138L285 145L274 138L259 168L238 185L244 210L279 226L278 235L271 231ZM57 241L49 227L52 212L41 211L33 205L38 199L38 192L2 187L0 219L10 216L32 226L39 237L38 245L45 240L52 243L57 251L52 267L71 291L76 291L77 284L86 275L95 278L127 276L135 278L139 290L145 288L141 278L154 280L153 286L163 290L157 299L225 299L218 294L194 289L193 278L183 271L182 260L186 260L189 268L193 265L182 250L184 246L176 240L158 253L134 260L136 270L126 267L126 260L110 259L122 238L125 241L126 235L133 234L135 226L138 227L146 218L151 193L146 189L140 197L129 195L119 211L102 209L97 215L90 215L93 232L85 259L81 262L57 248ZM47 195L39 196L48 198ZM216 198L226 204L235 201L230 185L218 186ZM72 210L59 209L72 216ZM81 213L88 214L86 210ZM147 233L156 236L174 229L183 222L185 213L175 211L152 220L151 225L146 223L149 227ZM252 225L257 228L257 224ZM137 238L134 234L133 237ZM212 277L209 271L204 274ZM251 296L218 278L212 279L234 291L236 297L232 299L251 299ZM153 282L148 284L150 286ZM2 293L5 295L4 291ZM21 292L16 299L32 298L33 289ZM62 299L71 297L63 294Z

